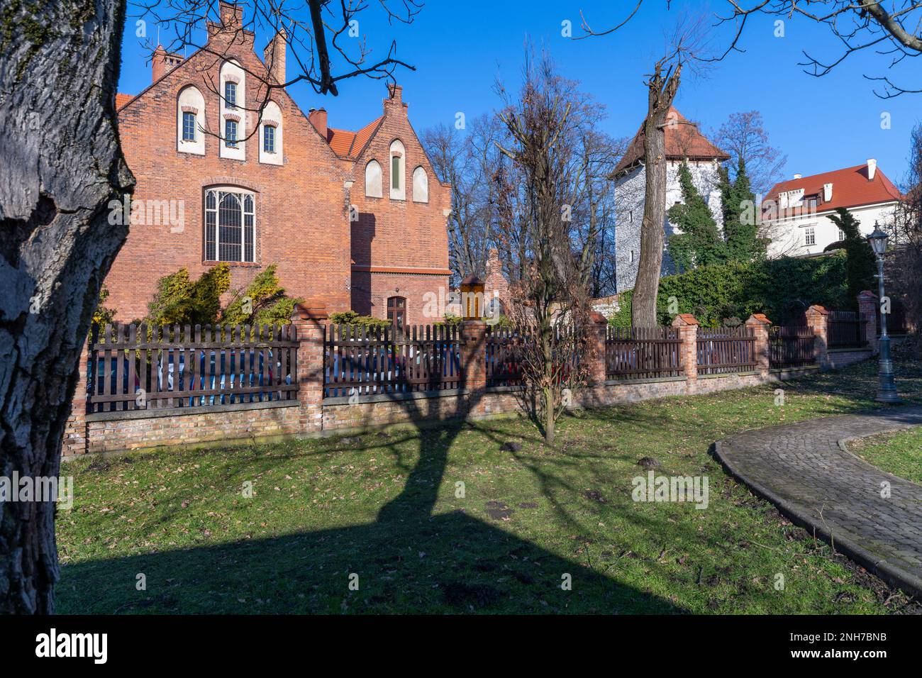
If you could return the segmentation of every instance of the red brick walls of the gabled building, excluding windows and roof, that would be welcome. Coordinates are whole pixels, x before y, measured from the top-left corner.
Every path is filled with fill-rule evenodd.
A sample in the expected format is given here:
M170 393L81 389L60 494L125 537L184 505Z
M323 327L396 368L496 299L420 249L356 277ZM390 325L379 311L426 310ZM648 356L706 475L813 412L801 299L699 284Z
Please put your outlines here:
M210 53L218 53L210 54ZM245 160L219 157L219 138L207 134L204 155L177 149L177 101L194 85L205 100L207 130L220 129L220 82L224 59L234 59L245 77L246 109L264 101L266 65L254 54L254 36L240 31L231 41L209 25L206 50L160 75L147 89L119 101L119 133L128 166L136 176L134 200L167 201L182 206L183 220L172 223L133 223L120 254L106 279L109 305L118 320L147 314L147 304L160 277L179 268L198 277L213 264L204 259L204 191L208 186L238 186L255 194L255 261L232 263L231 284L245 286L267 265L278 266L281 283L290 294L325 303L328 312L350 307L384 317L386 297L407 293L411 322L431 322L421 316L422 294L438 291L447 280L448 244L443 209L450 203L447 188L438 183L431 164L413 133L406 108L385 113L382 124L370 131L362 157L377 153L388 181L388 145L400 137L407 149L407 178L417 165L429 173L428 204L408 200L365 198L364 164L340 157L301 112L284 89L272 89L271 100L282 117L283 162L259 161L258 134L239 142ZM247 134L257 129L258 113L242 110ZM372 125L369 125L372 126ZM384 140L386 139L386 140ZM384 149L381 149L384 145ZM373 149L373 150L372 150ZM358 150L358 149L356 149ZM349 196L347 182L354 182ZM385 184L386 185L386 184ZM361 219L349 222L349 198ZM358 237L358 244L353 239ZM355 267L353 267L355 260ZM379 269L413 268L411 273L382 273ZM418 269L428 269L417 273ZM433 273L439 272L439 275ZM372 284L371 278L376 280ZM377 279L385 278L384 282ZM372 289L373 288L373 289ZM396 291L395 291L396 290ZM384 299L384 301L382 301Z

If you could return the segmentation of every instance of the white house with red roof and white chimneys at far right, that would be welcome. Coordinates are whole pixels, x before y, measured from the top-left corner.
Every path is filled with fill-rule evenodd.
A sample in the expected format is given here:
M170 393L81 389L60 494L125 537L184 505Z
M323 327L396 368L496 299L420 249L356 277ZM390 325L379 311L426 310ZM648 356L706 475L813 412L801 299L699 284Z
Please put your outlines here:
M768 255L815 255L842 240L829 219L836 208L851 212L863 235L874 230L875 221L887 227L900 199L899 190L873 158L844 170L795 174L775 184L762 201L762 232L771 240Z

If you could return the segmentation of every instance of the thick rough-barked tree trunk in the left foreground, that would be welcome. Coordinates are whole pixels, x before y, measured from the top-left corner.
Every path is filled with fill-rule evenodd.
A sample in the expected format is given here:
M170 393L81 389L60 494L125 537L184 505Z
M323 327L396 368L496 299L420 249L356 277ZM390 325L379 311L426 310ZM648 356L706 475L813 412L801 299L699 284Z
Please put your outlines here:
M58 474L100 283L134 185L115 127L124 1L39 0L0 32L0 475ZM79 405L78 405L79 406ZM0 613L52 613L52 502L0 504Z

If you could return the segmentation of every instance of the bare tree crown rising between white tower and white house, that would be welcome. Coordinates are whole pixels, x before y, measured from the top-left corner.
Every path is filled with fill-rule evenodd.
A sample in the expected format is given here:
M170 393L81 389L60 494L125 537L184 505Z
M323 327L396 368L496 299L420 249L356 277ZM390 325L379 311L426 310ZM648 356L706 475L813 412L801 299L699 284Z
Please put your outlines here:
M731 179L735 178L733 172L739 167L739 161L745 163L752 192L756 195L764 195L781 181L787 156L769 143L762 113L730 113L727 122L715 132L714 141L718 149L730 155Z

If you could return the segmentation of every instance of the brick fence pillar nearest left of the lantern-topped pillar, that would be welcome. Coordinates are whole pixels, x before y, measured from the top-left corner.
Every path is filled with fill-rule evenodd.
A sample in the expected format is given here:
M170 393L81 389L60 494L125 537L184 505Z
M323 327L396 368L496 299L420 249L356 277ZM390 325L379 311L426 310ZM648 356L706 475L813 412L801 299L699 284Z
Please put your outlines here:
M298 334L298 401L301 433L324 428L324 335L326 306L323 303L299 303L291 314Z

